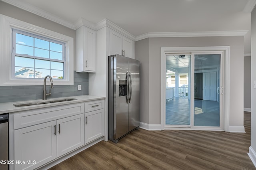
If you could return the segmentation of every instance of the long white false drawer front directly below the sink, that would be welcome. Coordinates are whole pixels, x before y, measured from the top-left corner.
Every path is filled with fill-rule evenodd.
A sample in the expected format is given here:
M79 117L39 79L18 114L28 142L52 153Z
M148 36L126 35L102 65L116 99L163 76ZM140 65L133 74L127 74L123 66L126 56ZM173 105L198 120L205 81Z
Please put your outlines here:
M24 128L84 113L84 103L21 111L13 115L14 129Z

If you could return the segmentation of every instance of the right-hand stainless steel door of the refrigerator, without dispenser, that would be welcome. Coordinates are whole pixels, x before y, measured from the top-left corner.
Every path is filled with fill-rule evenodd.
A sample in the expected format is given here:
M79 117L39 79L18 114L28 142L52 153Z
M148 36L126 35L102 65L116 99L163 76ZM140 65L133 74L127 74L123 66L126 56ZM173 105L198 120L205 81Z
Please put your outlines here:
M129 132L140 126L140 61L129 59Z

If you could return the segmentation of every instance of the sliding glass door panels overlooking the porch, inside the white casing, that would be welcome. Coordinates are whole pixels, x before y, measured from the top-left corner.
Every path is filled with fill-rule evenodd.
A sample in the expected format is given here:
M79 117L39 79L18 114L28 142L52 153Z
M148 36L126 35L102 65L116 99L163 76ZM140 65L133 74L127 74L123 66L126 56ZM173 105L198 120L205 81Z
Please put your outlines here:
M222 53L166 54L166 127L222 128Z

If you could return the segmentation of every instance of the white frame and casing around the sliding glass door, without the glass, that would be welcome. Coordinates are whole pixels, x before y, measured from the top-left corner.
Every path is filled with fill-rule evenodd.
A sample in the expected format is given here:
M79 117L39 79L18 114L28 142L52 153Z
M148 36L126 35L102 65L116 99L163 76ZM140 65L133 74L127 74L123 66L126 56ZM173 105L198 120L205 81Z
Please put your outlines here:
M222 53L223 64L221 65L223 70L223 121L221 128L194 128L194 124L190 125L191 128L169 128L165 126L166 119L166 54L172 53L202 53L202 52L211 52L211 53ZM194 73L194 61L191 60L191 70L193 69ZM194 77L191 72L191 76ZM194 79L193 79L194 80ZM192 84L193 82L191 82ZM161 48L161 130L165 129L183 129L183 130L224 130L229 131L229 115L230 115L230 46L214 46L214 47L162 47ZM190 91L191 99L192 95L194 96L194 90ZM192 108L192 106L191 106ZM194 109L194 107L193 107ZM192 117L191 117L192 119ZM191 122L192 123L192 122Z

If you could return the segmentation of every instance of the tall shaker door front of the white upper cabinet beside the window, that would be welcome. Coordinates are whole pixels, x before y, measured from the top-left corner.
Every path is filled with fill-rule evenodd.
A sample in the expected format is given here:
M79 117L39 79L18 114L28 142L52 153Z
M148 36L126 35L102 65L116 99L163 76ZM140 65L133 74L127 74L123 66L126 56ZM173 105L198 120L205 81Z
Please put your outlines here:
M84 27L84 71L96 71L96 32Z

